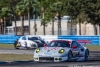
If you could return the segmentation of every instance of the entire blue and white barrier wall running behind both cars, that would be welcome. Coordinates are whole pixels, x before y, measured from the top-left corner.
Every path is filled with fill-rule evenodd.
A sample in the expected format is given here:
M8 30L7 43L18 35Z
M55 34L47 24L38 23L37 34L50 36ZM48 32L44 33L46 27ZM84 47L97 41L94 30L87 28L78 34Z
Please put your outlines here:
M15 35L0 35L0 43L13 44L16 39L19 39L21 36ZM52 39L72 39L72 40L90 40L92 45L100 44L100 36L57 36L57 35L40 35L40 37L45 40Z

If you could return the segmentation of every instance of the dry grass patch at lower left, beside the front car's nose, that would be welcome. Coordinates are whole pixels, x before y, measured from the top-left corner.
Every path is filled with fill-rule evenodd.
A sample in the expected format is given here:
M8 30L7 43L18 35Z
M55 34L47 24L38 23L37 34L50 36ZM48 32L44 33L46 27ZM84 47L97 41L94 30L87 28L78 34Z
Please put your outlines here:
M33 60L31 54L0 54L0 61L27 61Z

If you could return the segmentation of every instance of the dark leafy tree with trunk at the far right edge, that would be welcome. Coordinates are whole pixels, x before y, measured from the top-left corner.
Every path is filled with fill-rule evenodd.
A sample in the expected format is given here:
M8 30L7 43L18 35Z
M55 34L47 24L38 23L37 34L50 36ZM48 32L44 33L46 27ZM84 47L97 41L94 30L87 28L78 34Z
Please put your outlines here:
M97 24L100 24L100 1L99 0L91 0L87 1L87 9L86 13L88 14L88 22L94 25L94 33L97 35Z

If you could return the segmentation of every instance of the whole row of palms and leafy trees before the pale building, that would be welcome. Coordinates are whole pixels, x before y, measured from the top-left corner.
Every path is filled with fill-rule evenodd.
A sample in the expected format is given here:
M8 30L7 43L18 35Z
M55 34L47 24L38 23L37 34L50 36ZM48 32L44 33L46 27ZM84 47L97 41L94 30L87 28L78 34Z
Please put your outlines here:
M30 15L41 17L43 33L45 27L52 21L52 35L54 35L55 16L58 20L58 35L61 35L61 17L70 16L71 24L79 23L79 34L81 35L81 23L87 21L94 25L95 35L97 27L100 28L100 0L0 0L0 33L4 34L7 22L13 16L16 32L16 18L20 17L22 22L21 32L24 35L24 16L28 16L30 34ZM100 29L99 29L100 30ZM36 34L36 22L34 22L34 34Z

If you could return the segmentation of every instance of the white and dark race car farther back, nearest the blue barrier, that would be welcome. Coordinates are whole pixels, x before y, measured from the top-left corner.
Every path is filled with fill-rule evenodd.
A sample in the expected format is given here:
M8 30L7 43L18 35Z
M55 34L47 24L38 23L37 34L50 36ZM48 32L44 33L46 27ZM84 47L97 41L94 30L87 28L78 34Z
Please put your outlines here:
M14 47L15 49L19 48L38 48L43 47L45 44L45 41L40 37L36 35L27 35L22 36L18 40L15 41Z

